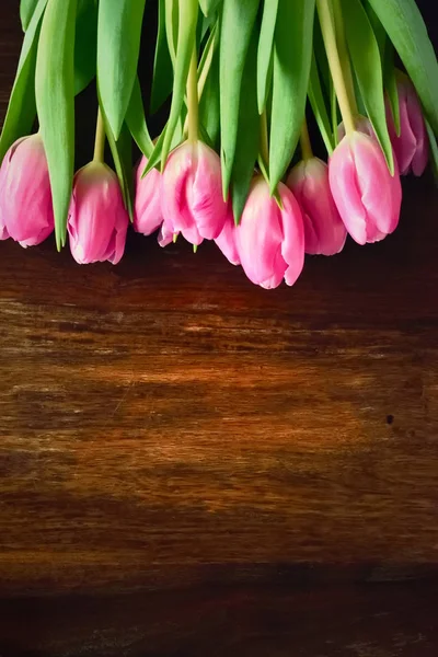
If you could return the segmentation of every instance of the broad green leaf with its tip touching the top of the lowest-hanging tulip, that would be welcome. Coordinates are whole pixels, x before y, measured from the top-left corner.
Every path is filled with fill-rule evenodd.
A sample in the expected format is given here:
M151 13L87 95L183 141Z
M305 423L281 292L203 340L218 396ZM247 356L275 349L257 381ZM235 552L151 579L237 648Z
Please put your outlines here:
M290 164L304 120L312 60L314 0L280 0L274 43L269 187Z

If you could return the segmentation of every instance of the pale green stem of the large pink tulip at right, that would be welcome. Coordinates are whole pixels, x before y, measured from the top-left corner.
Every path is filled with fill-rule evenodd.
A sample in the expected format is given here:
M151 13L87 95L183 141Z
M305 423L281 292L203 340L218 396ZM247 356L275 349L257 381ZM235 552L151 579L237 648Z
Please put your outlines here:
M346 134L354 132L355 119L353 117L351 106L349 104L348 91L344 80L343 68L341 65L339 53L336 44L336 32L332 14L331 0L316 0L318 15L322 36L324 39L325 51L327 54L330 71L333 78L337 100L339 103L341 114L344 120Z

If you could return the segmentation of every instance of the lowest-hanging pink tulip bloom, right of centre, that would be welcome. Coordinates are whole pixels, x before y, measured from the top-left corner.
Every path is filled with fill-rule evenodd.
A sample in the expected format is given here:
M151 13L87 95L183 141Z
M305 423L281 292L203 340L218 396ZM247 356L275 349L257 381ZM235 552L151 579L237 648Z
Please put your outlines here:
M266 289L285 279L293 285L304 264L304 228L300 207L284 184L278 185L283 209L265 180L253 180L237 228L237 246L246 276Z

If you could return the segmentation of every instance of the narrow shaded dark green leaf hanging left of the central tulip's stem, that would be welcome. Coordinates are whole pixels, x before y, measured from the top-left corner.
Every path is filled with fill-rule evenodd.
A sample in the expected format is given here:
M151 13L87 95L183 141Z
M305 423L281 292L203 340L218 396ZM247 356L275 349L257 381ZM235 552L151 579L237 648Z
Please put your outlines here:
M172 92L173 66L165 35L165 0L158 4L158 34L153 61L150 111L154 114Z

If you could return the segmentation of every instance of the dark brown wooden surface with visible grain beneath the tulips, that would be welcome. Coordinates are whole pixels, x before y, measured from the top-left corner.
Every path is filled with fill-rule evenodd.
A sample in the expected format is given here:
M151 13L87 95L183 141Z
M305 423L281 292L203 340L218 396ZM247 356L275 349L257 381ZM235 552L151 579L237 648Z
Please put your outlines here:
M272 292L0 243L1 657L437 655L437 208Z

